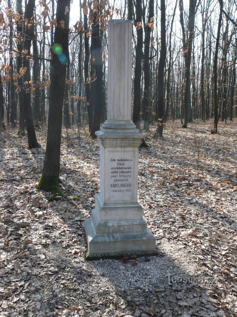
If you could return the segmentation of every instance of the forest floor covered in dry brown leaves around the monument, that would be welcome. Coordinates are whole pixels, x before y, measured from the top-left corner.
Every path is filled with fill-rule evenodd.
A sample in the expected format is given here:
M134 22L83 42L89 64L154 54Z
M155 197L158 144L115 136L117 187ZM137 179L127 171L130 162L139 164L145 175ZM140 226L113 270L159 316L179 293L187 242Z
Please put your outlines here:
M158 256L85 261L84 219L99 193L99 142L63 131L61 200L37 183L40 149L0 132L0 316L236 316L237 121L168 121L139 150L138 201Z

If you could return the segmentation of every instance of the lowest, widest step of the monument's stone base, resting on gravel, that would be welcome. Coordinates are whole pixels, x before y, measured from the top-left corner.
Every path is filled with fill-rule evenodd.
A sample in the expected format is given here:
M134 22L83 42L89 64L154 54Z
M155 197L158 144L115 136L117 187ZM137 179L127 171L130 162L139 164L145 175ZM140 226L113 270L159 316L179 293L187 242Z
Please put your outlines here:
M148 228L145 232L96 234L92 218L88 218L85 219L85 232L88 245L87 260L121 258L125 254L157 254L155 237Z

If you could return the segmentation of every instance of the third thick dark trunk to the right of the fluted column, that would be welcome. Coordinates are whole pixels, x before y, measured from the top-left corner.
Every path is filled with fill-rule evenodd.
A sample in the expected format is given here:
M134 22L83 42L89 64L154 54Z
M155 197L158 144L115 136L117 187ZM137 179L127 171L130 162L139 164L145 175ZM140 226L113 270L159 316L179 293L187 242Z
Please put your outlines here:
M161 52L158 66L158 121L155 131L155 138L163 137L164 125L164 68L166 60L166 16L165 16L165 0L161 0Z

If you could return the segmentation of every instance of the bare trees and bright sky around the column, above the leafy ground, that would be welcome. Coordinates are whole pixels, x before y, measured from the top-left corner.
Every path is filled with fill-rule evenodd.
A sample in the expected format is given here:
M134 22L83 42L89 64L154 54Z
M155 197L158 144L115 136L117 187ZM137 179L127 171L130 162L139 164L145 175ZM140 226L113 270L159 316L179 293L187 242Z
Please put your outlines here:
M112 2L112 1L111 1ZM70 0L4 0L0 4L0 124L27 130L29 148L40 146L35 128L48 127L39 186L59 182L62 125L106 120L108 20L132 20L132 113L139 130L168 120L237 117L236 1L80 0L70 22ZM75 23L75 24L74 24ZM56 164L55 164L56 162Z

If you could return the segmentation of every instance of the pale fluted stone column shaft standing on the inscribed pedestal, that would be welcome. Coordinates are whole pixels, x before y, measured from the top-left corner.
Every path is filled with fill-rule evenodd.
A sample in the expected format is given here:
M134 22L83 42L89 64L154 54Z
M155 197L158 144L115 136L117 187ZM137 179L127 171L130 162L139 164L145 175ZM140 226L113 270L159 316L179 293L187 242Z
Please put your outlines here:
M110 20L108 32L107 117L131 120L132 21Z

